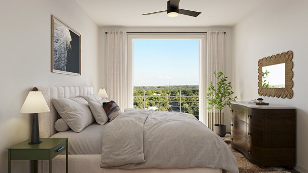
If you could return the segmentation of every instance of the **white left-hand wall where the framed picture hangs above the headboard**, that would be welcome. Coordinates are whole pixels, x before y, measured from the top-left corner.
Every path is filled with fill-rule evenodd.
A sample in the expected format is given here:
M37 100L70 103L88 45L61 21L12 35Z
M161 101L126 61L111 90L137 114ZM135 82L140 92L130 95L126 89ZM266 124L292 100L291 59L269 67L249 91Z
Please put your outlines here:
M51 14L81 33L82 76L51 73ZM91 85L98 91L98 37L98 26L75 1L0 1L0 172L7 172L6 148L30 138L30 115L19 111L33 87ZM27 161L12 161L12 172L28 170Z

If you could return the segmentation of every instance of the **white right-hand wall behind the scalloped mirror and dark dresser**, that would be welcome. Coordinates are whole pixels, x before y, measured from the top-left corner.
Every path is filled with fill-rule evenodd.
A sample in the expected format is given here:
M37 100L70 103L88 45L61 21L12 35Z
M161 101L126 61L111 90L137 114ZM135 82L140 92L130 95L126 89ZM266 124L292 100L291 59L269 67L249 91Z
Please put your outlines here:
M297 109L296 169L308 172L308 1L272 0L234 28L234 87L239 100L258 98L258 59L292 50L294 96L263 97L265 101Z

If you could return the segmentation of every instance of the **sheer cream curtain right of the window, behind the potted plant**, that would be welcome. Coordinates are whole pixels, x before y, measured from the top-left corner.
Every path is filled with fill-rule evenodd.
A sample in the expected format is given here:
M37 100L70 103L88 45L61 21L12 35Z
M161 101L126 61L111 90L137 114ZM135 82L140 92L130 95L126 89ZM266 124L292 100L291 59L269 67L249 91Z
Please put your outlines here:
M222 70L224 72L224 50L225 37L224 32L207 32L206 38L206 89L210 82L216 84L217 80L214 77L214 71ZM206 105L208 106L208 105ZM222 110L222 117L223 117ZM219 124L219 110L211 110L206 112L205 122L209 129L213 130L214 124ZM223 123L223 119L222 119Z

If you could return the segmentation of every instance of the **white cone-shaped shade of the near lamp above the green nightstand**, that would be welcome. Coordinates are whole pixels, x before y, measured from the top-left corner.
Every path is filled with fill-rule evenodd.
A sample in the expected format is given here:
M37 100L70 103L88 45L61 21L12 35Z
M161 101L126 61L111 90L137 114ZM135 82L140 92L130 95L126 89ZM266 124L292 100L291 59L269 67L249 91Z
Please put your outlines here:
M24 114L50 112L42 92L30 91L20 111Z

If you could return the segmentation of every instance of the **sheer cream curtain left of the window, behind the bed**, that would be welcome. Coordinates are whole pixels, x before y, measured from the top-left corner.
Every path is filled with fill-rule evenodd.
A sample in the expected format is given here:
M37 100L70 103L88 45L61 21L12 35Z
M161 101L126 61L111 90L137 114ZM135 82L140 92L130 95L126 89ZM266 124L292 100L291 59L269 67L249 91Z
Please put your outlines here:
M125 31L107 31L107 85L109 100L115 101L121 111L127 108L127 34Z

